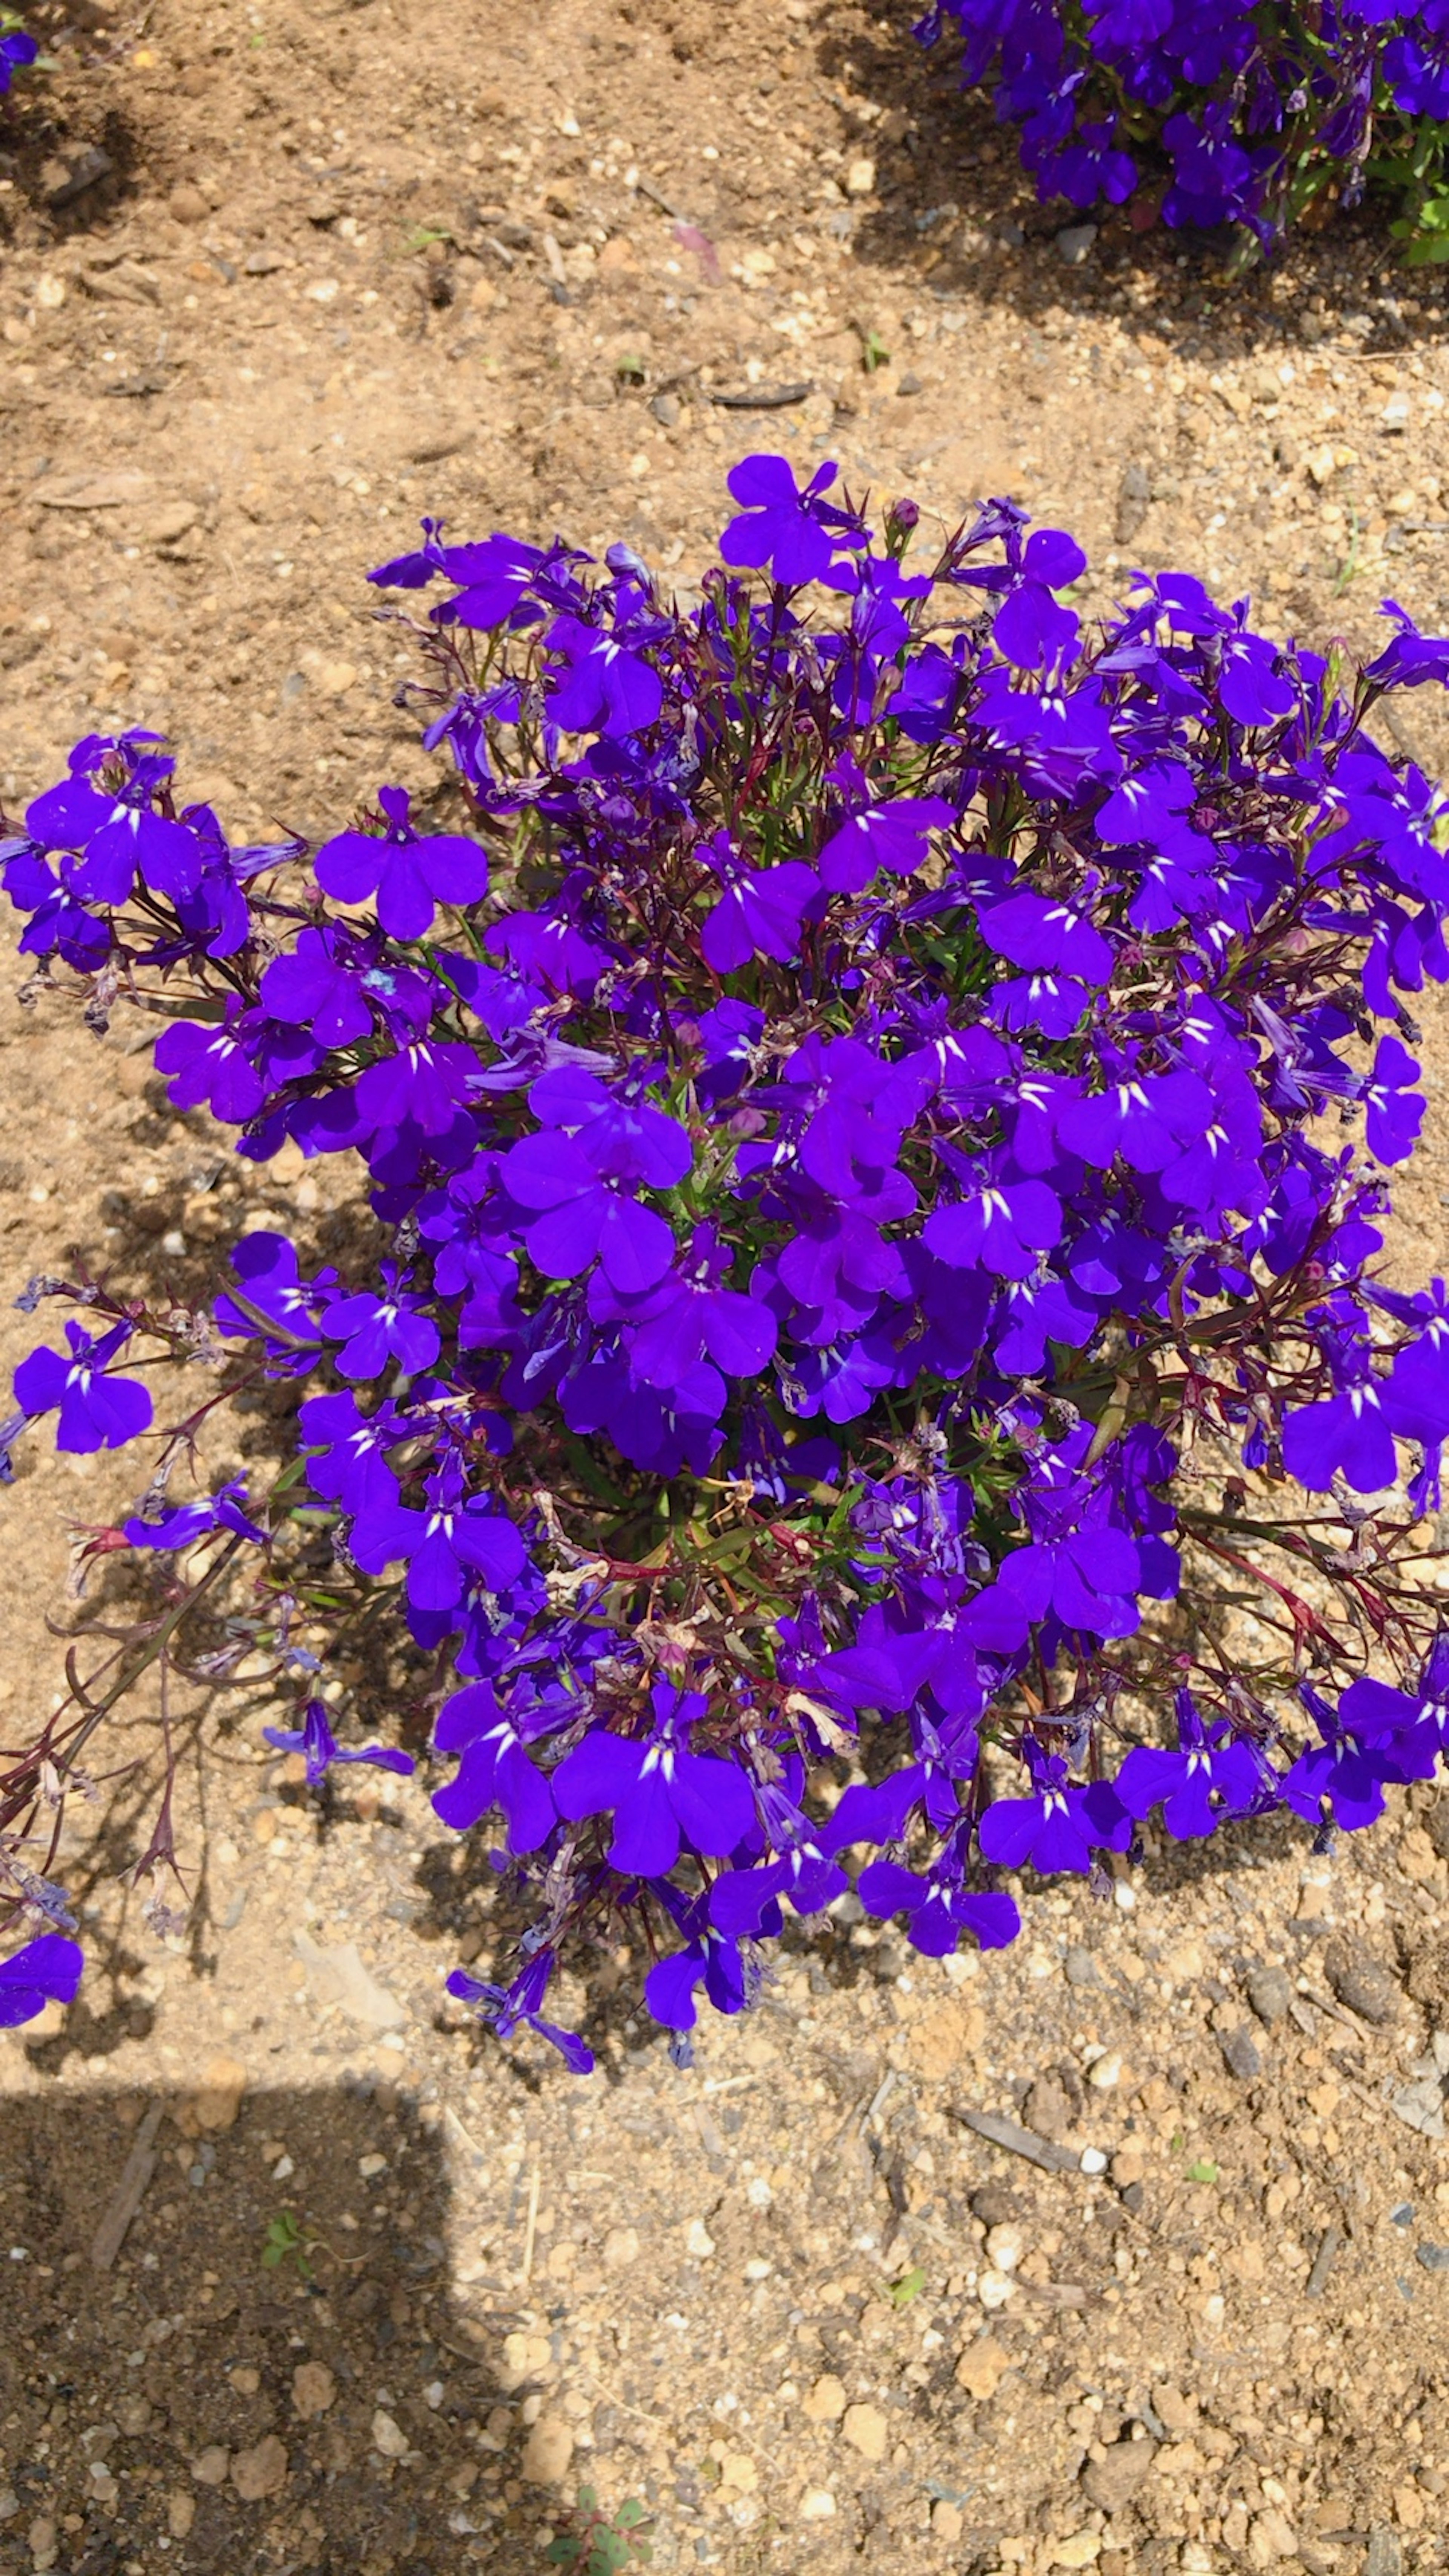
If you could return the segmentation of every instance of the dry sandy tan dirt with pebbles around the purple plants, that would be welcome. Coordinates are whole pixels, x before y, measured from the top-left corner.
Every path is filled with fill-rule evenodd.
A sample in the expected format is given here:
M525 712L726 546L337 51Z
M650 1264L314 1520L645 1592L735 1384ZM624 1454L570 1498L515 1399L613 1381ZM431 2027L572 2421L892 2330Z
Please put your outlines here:
M126 721L173 732L237 835L335 829L433 775L364 582L423 510L624 536L683 590L755 446L944 523L1013 492L1085 541L1088 603L1173 562L1315 644L1364 647L1385 592L1449 618L1434 273L1364 219L1238 286L1124 216L1060 240L905 18L52 18L57 70L0 126L3 804ZM1439 706L1397 724L1444 760ZM343 1239L340 1175L232 1170L129 1028L101 1046L18 987L5 1296L70 1247L199 1285L263 1211ZM1413 1278L1444 1265L1444 1030ZM31 1340L8 1314L5 1365ZM209 1468L273 1430L229 1417ZM0 1507L15 1726L75 1618L70 1525L126 1499L36 1455ZM343 1682L366 1708L405 1674ZM1114 1904L1036 1891L1006 1958L915 1960L846 1901L691 2074L603 1960L578 2081L441 1991L490 1958L490 1873L425 1770L317 1808L263 1718L232 1695L186 1754L196 1904L165 1942L116 1883L137 1723L142 1770L70 1829L83 2002L0 2040L3 2576L513 2576L580 2481L639 2496L670 2571L1449 2561L1441 1793L1330 1860L1238 1832Z

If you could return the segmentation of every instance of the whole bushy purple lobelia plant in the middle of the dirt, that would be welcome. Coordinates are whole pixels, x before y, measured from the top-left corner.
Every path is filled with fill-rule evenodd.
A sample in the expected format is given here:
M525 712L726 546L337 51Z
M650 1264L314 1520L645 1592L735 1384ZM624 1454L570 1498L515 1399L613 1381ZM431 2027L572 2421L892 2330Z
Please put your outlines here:
M36 994L168 1015L178 1110L358 1157L392 1231L371 1283L255 1231L206 1311L21 1298L72 1314L0 1453L150 1443L85 1558L162 1574L0 1775L46 1924L5 1994L75 1984L46 1870L142 1674L168 1759L168 1674L260 1646L315 1785L413 1767L340 1741L302 1623L433 1659L400 1734L526 1917L449 1991L575 2069L562 1955L637 1935L688 2061L848 1855L941 1955L1016 1937L1013 1873L1106 1888L1150 1816L1328 1847L1434 1775L1449 1298L1374 1265L1449 809L1369 721L1449 641L1385 603L1351 670L1186 574L1083 629L1070 536L990 502L908 569L915 505L877 541L833 482L735 466L696 605L627 546L425 520L374 582L441 592L384 616L467 832L384 788L309 866L235 848L129 732L0 845ZM199 1386L165 1427L160 1368ZM180 1492L266 1381L297 1458Z

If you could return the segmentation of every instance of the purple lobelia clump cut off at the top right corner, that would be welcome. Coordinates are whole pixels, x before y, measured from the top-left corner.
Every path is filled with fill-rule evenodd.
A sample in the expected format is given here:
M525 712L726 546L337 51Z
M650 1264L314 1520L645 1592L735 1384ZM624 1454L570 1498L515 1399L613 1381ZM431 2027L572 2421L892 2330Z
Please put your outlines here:
M954 21L962 85L995 82L1042 198L1127 198L1165 224L1245 224L1263 245L1325 185L1354 201L1369 152L1426 216L1428 142L1449 118L1449 5L1330 0L933 0ZM1165 165L1165 178L1160 175ZM1155 198L1152 198L1155 191ZM1434 216L1423 255L1434 255Z

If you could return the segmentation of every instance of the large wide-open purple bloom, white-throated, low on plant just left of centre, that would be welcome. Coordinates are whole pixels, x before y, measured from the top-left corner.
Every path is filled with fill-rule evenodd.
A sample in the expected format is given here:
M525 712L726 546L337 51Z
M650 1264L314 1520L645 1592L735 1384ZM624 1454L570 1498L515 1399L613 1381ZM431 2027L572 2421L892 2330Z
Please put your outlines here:
M740 1767L688 1752L688 1734L709 1700L696 1690L655 1682L650 1703L650 1736L629 1739L596 1726L565 1754L552 1783L559 1816L614 1816L608 1865L637 1878L673 1870L681 1842L722 1857L755 1821L755 1801Z

